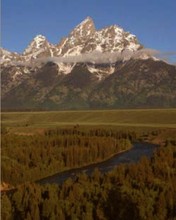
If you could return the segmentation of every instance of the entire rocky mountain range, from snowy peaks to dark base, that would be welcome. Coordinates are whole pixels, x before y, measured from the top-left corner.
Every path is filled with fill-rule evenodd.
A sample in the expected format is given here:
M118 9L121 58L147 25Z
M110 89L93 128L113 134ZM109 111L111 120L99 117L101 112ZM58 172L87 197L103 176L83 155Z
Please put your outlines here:
M88 17L57 45L38 35L0 54L3 109L176 107L176 66L116 25Z

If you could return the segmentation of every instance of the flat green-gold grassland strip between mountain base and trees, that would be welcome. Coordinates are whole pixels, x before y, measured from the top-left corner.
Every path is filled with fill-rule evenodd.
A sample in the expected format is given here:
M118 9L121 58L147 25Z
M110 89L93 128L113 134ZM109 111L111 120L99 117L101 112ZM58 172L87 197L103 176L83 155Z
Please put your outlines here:
M30 133L52 127L176 128L176 109L3 112L2 127Z

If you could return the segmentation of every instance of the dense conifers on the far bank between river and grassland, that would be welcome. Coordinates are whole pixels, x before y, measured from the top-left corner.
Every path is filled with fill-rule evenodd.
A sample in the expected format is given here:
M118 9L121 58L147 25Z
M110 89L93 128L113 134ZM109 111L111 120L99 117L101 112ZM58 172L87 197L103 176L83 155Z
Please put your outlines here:
M129 149L133 133L106 129L51 129L42 135L2 134L2 181L34 181L65 169L100 162Z

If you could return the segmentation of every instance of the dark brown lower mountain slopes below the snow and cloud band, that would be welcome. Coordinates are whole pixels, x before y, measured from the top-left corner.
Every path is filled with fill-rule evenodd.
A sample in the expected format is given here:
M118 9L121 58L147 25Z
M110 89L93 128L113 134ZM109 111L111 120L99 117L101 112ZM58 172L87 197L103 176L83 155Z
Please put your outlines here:
M102 68L105 64L102 65ZM100 68L99 64L99 68ZM87 64L76 64L61 74L47 63L5 83L3 109L109 109L176 107L176 67L153 59L131 59L115 64L114 73L99 80ZM3 72L4 76L5 73ZM6 80L8 81L8 72ZM9 89L7 87L9 86Z

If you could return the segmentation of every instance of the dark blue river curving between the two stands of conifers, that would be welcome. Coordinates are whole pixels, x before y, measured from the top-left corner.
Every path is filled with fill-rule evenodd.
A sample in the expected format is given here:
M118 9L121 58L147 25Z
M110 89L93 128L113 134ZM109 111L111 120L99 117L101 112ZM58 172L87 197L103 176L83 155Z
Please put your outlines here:
M37 182L40 184L62 184L68 178L75 178L76 175L81 172L85 172L86 174L91 175L95 168L98 168L102 173L106 173L119 164L136 163L143 156L150 158L156 148L156 145L150 143L135 143L130 150L116 154L106 161L60 172L53 176L41 179Z

